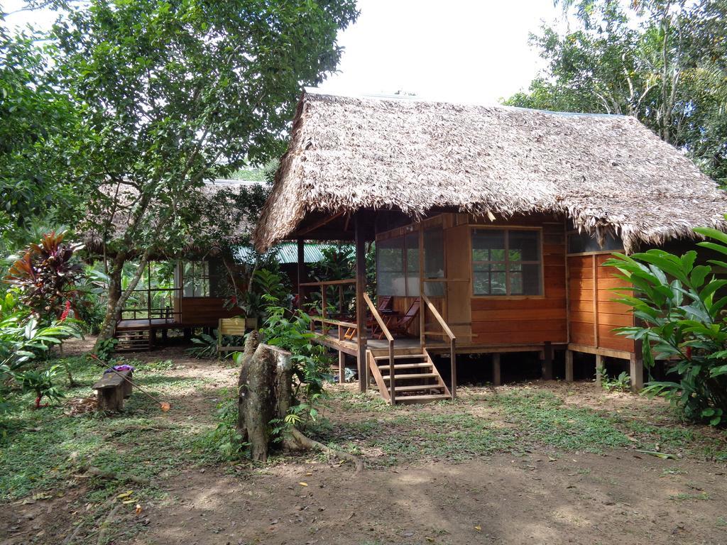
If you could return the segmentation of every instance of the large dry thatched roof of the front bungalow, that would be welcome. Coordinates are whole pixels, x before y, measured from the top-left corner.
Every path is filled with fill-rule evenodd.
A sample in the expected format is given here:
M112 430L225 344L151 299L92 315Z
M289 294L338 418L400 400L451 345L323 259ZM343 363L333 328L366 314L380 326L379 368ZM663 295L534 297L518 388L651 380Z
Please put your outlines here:
M726 193L629 116L307 89L254 241L262 250L294 236L311 214L442 207L566 214L627 251L727 225Z

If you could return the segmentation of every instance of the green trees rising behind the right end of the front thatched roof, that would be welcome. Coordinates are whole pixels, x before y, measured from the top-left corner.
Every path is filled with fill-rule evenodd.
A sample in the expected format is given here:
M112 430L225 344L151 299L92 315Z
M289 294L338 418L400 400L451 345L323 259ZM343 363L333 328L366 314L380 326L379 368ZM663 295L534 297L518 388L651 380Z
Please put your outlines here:
M727 2L557 0L574 17L531 43L547 60L508 105L634 116L727 183Z

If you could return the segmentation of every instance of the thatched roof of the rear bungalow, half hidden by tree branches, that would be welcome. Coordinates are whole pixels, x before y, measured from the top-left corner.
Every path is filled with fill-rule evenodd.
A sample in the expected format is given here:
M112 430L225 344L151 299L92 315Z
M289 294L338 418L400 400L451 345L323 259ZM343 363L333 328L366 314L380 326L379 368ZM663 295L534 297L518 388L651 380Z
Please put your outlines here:
M212 243L220 246L233 246L249 239L255 225L256 218L246 217L241 214L238 218L220 217L220 214L228 206L233 206L236 195L240 195L243 191L253 191L257 188L268 190L265 182L254 182L238 179L214 179L200 187L193 195L196 214L196 227L194 233L196 240L204 239L205 235ZM129 185L109 184L101 188L108 198L115 200L119 205L116 207L108 221L108 213L114 210L108 203L98 206L98 211L87 222L89 227L87 230L79 233L81 241L85 243L87 249L92 253L102 254L104 251L104 241L109 243L118 240L124 236L126 227L133 211L129 206L137 201L138 192ZM117 194L116 191L119 191ZM156 217L148 218L149 225L153 226ZM109 225L110 223L110 225ZM206 251L209 248L198 248L196 242L191 238L186 243L186 248L190 252ZM155 251L156 255L156 251Z

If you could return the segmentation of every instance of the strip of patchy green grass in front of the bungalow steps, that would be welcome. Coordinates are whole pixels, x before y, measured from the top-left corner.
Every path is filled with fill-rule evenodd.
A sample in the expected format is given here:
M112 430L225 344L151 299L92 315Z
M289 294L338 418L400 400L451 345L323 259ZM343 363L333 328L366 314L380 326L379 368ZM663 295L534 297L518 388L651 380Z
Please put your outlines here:
M463 461L497 452L537 450L603 453L614 448L654 448L663 452L727 459L722 438L705 435L700 427L647 424L628 416L563 403L542 390L516 389L489 394L476 400L433 405L391 407L368 395L337 392L346 411L376 412L373 418L318 424L312 430L318 440L351 452L380 449L384 456L373 464L446 459ZM492 416L475 416L484 407ZM711 432L711 430L710 430Z

